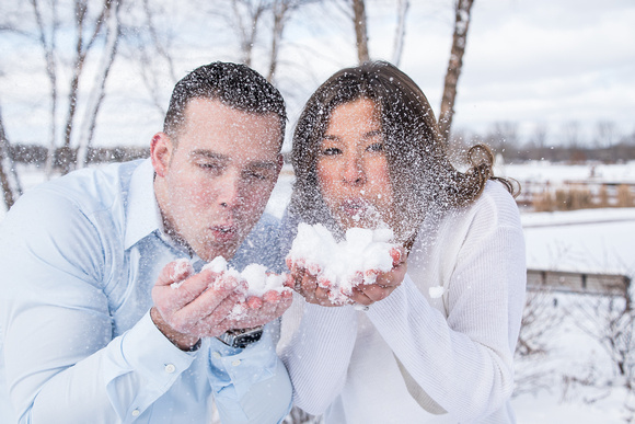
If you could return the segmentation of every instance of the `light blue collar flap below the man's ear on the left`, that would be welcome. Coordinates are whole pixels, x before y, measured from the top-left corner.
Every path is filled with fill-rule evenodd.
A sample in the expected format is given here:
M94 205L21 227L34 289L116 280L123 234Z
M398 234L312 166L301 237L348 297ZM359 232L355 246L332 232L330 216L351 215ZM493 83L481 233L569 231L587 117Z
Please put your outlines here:
M130 249L142 238L162 230L161 214L154 195L154 169L150 159L137 167L130 177L126 207L124 248Z

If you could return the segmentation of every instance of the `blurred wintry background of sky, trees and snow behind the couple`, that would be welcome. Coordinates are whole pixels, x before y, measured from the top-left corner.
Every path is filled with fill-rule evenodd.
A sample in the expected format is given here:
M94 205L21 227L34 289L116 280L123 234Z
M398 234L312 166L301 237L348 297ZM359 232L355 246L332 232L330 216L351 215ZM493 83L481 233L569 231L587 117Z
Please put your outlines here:
M200 65L244 62L278 87L288 152L321 82L388 60L424 90L459 165L486 142L522 186L519 423L632 422L633 22L633 0L0 0L0 220L34 184L147 157ZM272 214L292 181L286 165Z

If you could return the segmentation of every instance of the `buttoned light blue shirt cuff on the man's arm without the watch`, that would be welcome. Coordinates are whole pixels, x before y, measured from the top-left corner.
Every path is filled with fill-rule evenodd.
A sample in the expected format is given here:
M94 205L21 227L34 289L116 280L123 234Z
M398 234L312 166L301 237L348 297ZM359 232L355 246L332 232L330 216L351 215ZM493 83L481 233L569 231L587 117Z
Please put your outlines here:
M189 368L197 352L183 352L154 325L148 311L126 332L122 354L132 369L168 390L181 373Z

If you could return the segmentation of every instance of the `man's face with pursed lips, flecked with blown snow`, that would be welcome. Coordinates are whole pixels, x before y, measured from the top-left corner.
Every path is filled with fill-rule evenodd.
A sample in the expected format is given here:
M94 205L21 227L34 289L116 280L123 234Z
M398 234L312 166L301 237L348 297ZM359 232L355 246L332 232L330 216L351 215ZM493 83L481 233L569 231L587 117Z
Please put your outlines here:
M165 229L203 260L231 259L263 214L281 168L278 115L194 99L176 146L152 140L154 191Z

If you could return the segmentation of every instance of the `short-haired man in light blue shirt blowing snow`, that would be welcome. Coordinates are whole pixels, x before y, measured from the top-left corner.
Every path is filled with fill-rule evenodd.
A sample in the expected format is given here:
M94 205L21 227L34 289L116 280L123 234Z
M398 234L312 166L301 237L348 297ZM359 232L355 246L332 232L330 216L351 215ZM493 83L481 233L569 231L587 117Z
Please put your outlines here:
M262 76L204 66L176 84L149 160L78 171L14 205L0 228L0 345L20 423L208 423L212 401L223 422L284 419L276 323L261 326L290 295L245 302L244 284L200 268L218 255L278 263L276 222L259 218L285 124ZM232 319L239 302L247 312Z

